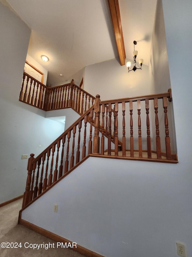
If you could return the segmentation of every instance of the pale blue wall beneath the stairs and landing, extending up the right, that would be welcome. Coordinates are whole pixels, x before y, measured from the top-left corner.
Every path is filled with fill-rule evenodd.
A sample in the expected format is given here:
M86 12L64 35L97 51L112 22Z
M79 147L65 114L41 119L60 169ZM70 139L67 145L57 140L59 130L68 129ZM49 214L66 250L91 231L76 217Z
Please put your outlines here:
M106 257L192 256L191 9L163 0L179 163L89 158L22 218Z

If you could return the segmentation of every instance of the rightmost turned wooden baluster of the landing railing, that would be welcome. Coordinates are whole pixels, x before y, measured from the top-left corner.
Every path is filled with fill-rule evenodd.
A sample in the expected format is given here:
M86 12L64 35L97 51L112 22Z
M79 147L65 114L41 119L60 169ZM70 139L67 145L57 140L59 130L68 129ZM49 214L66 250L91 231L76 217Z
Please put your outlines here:
M167 97L163 98L163 108L165 113L165 146L166 146L166 156L168 160L171 160L171 145L169 137L169 127L168 127L168 118L167 118Z

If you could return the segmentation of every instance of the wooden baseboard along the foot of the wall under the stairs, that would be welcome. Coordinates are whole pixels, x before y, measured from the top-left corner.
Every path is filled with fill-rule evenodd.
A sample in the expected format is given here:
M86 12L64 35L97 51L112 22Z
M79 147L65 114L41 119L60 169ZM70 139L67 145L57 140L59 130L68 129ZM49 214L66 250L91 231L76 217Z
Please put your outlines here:
M56 242L60 242L60 243L64 243L64 244L65 243L67 243L67 244L70 243L71 246L72 246L72 243L73 243L72 241L70 241L68 239L65 239L64 237L58 236L58 235L56 235L56 234L54 234L54 233L52 233L52 232L50 232L50 231L48 231L48 230L46 230L42 227L38 227L38 226L30 223L29 221L19 219L19 224L21 224L25 227L28 227L29 229L32 229L32 230L40 233L41 235L44 235L45 237L48 237L52 240L55 240ZM76 245L76 248L74 247L72 249L73 249L73 251L79 252L79 253L84 254L88 257L104 257L103 255L100 255L96 252L92 252L91 250L86 249L86 248L84 248L80 245Z

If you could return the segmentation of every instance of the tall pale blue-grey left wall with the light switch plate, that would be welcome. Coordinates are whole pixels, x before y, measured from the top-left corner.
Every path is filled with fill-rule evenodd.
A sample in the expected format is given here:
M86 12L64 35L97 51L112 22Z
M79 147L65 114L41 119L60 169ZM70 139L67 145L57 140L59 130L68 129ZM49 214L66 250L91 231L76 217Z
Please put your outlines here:
M25 191L27 160L37 156L64 130L45 111L19 102L30 29L0 2L0 202Z

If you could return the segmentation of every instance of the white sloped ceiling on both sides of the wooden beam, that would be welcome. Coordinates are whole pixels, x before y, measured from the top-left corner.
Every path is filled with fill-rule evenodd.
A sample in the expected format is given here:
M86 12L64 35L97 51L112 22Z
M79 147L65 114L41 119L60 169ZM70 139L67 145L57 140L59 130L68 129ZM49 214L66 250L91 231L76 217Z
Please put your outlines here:
M7 0L32 30L28 54L48 70L47 84L80 81L82 69L118 57L107 0ZM119 0L126 57L149 64L157 0ZM48 62L41 55L49 57ZM120 64L119 64L120 65ZM63 74L63 77L60 77Z

